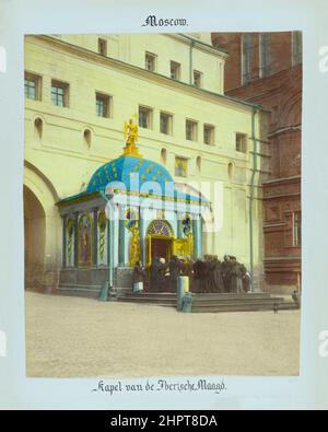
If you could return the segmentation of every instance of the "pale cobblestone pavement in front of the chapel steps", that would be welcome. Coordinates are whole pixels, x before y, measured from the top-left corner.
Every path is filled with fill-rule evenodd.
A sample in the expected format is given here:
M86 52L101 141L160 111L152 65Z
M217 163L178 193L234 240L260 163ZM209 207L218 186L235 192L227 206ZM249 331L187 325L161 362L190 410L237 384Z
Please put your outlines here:
M175 308L26 292L27 376L297 375L300 312Z

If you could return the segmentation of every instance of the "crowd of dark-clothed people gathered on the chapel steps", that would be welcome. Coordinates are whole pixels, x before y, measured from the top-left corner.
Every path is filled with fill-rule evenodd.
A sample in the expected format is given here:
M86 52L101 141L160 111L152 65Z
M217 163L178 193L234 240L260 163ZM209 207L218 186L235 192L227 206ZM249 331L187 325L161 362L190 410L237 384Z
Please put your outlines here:
M133 290L140 291L142 287L176 292L179 276L188 276L190 290L199 293L244 293L249 292L251 285L247 268L234 256L225 255L222 261L212 255L196 261L173 256L168 262L153 258L149 271L138 262L133 270Z

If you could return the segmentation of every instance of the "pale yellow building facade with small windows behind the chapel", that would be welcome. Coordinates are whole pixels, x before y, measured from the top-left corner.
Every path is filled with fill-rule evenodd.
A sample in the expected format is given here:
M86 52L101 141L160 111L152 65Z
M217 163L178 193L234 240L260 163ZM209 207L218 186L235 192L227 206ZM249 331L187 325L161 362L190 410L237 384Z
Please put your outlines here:
M134 114L140 153L211 202L202 255L236 256L260 284L267 113L223 94L226 56L202 34L26 36L26 287L58 287L56 203L122 154Z

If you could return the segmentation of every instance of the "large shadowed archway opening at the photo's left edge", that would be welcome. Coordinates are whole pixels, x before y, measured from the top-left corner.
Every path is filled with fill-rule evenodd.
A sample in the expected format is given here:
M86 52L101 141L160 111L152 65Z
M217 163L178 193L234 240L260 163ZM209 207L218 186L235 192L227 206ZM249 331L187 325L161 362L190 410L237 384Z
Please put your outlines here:
M25 289L44 285L46 214L39 200L24 186Z

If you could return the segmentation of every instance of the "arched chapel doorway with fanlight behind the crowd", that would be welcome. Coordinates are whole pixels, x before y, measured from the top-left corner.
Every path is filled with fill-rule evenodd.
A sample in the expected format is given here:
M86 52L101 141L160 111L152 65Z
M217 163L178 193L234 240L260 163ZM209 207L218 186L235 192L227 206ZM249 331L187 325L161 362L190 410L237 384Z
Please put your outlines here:
M166 221L154 220L147 232L148 265L153 258L164 258L168 261L173 254L174 231Z

